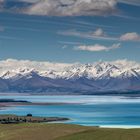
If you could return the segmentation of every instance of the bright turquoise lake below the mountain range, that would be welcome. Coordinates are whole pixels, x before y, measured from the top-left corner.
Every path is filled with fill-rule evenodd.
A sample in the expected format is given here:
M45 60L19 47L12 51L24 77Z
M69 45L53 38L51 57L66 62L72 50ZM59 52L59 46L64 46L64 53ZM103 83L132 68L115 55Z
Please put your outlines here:
M67 117L64 123L102 127L140 127L140 97L124 96L21 96L0 95L0 99L34 103L70 103L1 108L0 114Z

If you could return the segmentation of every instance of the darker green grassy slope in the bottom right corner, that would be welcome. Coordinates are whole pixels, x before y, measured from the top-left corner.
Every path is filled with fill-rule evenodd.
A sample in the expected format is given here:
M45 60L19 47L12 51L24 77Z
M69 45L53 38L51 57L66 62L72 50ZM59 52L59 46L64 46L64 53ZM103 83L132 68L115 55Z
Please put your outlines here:
M140 140L140 129L93 129L56 140Z

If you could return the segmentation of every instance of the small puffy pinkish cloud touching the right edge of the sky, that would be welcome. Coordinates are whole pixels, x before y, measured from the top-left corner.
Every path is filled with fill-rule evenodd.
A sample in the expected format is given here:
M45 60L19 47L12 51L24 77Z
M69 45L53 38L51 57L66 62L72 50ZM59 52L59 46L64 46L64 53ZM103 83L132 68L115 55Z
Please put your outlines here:
M136 32L126 33L120 37L121 41L140 41L140 35Z

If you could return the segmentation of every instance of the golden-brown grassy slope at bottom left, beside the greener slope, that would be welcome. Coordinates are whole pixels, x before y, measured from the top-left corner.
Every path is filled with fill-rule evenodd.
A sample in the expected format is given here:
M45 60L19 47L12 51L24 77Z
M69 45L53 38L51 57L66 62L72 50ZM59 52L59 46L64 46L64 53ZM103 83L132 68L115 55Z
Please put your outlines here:
M54 140L85 130L86 127L64 124L1 124L0 140Z

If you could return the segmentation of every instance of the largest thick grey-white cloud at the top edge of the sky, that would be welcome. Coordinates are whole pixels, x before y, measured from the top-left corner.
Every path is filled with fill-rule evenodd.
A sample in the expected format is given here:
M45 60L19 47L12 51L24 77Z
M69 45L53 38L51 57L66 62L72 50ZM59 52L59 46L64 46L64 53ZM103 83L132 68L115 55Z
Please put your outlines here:
M31 15L106 15L116 11L116 0L40 0L24 9Z

